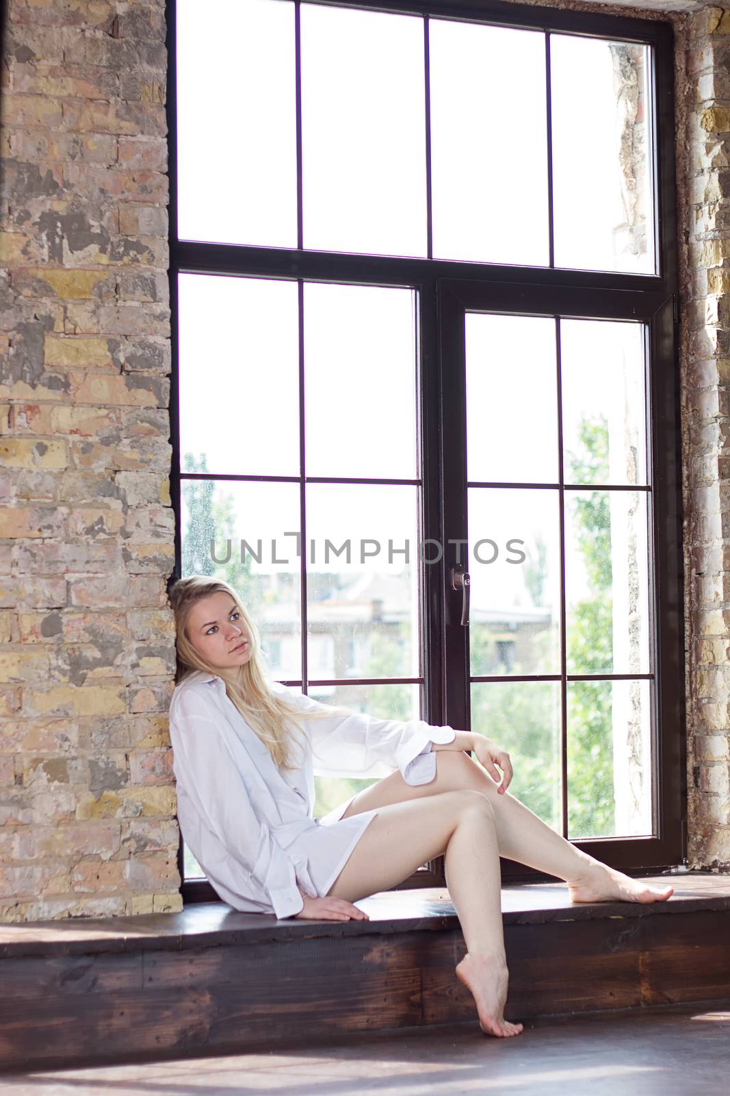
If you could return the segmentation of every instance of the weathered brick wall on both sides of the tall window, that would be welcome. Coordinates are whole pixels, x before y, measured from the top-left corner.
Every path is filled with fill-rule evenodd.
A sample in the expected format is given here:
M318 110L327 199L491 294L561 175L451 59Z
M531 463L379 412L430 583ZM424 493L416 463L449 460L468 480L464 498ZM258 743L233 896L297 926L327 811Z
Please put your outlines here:
M730 11L605 10L677 35L690 864L728 867ZM164 36L162 0L8 4L0 921L181 907Z

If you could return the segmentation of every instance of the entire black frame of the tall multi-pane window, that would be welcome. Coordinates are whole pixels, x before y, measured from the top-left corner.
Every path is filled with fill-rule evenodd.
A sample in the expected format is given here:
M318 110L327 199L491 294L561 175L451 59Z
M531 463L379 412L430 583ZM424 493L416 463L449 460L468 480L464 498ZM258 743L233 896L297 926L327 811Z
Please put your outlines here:
M451 461L451 482L439 484L443 475L442 439L444 434L460 429L464 421L461 381L443 385L449 362L463 364L463 336L454 336L454 322L460 309L501 310L519 313L555 316L604 316L615 319L644 320L648 328L652 368L648 392L649 456L653 475L656 614L656 711L659 727L657 806L659 831L653 838L600 838L575 841L605 863L640 874L657 871L686 863L686 726L684 697L684 580L682 551L681 434L679 376L679 254L676 224L676 181L674 162L674 33L669 20L633 19L602 12L579 12L561 8L497 4L480 0L457 3L428 0L381 0L376 4L354 3L351 0L315 0L332 7L360 8L380 12L443 16L450 20L489 23L515 28L555 31L598 36L619 42L637 42L653 48L654 103L654 199L656 248L659 272L623 274L614 272L577 271L554 266L510 266L496 263L451 262L433 259L410 259L389 255L367 255L302 249L302 174L301 174L301 72L299 65L299 4L296 7L297 39L297 159L298 159L298 248L264 248L255 246L218 244L179 240L177 238L177 129L176 129L176 55L175 0L166 0L167 16L167 125L170 157L170 298L172 376L170 421L172 475L171 493L175 513L175 567L170 582L181 573L182 480L192 473L181 473L178 422L178 344L177 344L177 277L179 273L247 275L299 281L300 306L306 281L351 282L412 286L418 294L419 326L419 418L421 421L421 477L424 511L422 535L448 543L450 530L465 522L465 454L463 476L459 461ZM546 37L546 42L549 38ZM426 37L428 50L428 36ZM428 58L427 58L428 59ZM428 89L427 125L428 125ZM548 130L549 145L549 130ZM428 133L427 133L427 157ZM428 239L430 251L430 169L428 174ZM552 224L551 209L551 224ZM552 230L551 230L552 239ZM552 248L551 248L552 254ZM500 307L501 301L501 307ZM300 320L301 322L301 320ZM301 347L300 347L301 355ZM302 362L300 357L300 370ZM455 370L456 373L459 370ZM452 435L453 436L453 435ZM463 436L463 435L461 435ZM303 445L303 442L302 442ZM199 475L201 479L234 480L236 477ZM240 476L239 479L281 481L288 477ZM299 481L299 477L289 477ZM306 482L321 480L305 477ZM338 480L341 481L341 480ZM443 499L443 505L439 500ZM302 518L304 515L302 514ZM302 528L304 524L302 523ZM421 626L424 640L424 681L426 715L431 723L468 727L467 643L465 629L456 637L454 603L447 590L451 559L444 550L439 566L422 570ZM461 596L461 595L460 595ZM302 590L302 618L305 619L306 591ZM305 629L302 637L302 673L306 681ZM491 676L491 675L490 675ZM600 675L604 680L606 675ZM610 675L609 675L610 676ZM641 676L641 675L631 675ZM410 678L397 678L409 681ZM303 687L301 682L290 682ZM335 682L310 682L335 684ZM355 680L348 678L348 684ZM564 717L565 718L565 717ZM565 773L564 773L565 776ZM564 804L565 806L565 804ZM185 880L183 841L178 854L184 902L211 901L218 895L210 883ZM535 881L545 878L538 872L502 860L503 878L509 881ZM442 858L431 861L424 870L404 880L394 889L443 886Z

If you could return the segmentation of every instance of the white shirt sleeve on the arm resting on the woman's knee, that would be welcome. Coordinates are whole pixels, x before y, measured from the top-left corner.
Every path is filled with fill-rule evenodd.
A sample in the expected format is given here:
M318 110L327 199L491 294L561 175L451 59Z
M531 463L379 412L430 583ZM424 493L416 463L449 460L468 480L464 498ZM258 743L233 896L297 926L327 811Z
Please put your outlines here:
M287 688L286 696L302 711L327 710L327 705L301 689ZM316 775L380 777L398 769L408 784L433 779L431 744L453 742L456 734L452 727L432 727L424 719L378 719L364 712L333 713L329 719L306 720L304 727Z

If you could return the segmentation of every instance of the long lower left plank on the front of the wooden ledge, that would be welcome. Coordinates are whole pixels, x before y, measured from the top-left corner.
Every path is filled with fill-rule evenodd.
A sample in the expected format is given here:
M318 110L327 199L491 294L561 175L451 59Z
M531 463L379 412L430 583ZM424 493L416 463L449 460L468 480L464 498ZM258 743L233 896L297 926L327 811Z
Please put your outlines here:
M148 993L74 994L19 1001L0 1008L0 1062L93 1062L102 1055L213 1049L256 1049L297 1039L415 1026L420 1023L419 971L366 974L348 992L321 983L273 981L265 1000L258 986L233 984L166 987Z

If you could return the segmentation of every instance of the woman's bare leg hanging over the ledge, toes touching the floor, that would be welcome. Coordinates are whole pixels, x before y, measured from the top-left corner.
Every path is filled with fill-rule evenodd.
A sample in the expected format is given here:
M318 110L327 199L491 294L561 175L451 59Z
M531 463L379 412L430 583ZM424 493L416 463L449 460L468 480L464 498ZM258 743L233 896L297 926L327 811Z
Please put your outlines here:
M509 973L499 848L494 808L485 796L462 789L380 808L328 894L356 902L402 882L442 854L467 947L456 974L474 995L483 1031L519 1035L522 1025L503 1014Z

